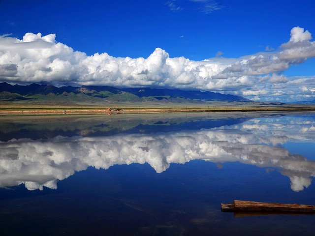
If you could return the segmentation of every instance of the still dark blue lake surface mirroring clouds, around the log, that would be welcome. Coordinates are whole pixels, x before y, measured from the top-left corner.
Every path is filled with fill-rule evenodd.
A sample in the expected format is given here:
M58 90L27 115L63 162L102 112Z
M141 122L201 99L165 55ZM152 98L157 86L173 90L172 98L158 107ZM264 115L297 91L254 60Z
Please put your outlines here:
M315 114L0 117L0 235L314 235Z

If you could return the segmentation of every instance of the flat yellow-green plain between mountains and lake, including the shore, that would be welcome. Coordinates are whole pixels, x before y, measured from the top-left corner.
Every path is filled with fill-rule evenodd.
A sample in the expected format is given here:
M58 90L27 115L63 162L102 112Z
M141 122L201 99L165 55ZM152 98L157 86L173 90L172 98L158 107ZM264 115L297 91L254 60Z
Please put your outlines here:
M111 108L112 111L108 109ZM122 109L122 111L115 111ZM1 102L0 114L169 113L169 112L257 112L315 111L315 105L267 102L196 103L23 103Z

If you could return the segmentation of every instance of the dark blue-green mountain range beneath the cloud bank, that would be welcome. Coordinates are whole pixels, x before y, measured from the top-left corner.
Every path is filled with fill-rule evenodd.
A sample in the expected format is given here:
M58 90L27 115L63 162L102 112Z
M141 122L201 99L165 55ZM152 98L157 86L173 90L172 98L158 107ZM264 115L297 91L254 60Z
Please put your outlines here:
M242 96L219 92L126 88L109 86L55 87L52 85L31 84L27 86L0 83L0 101L67 101L67 102L175 102L198 103L205 101L251 102Z

